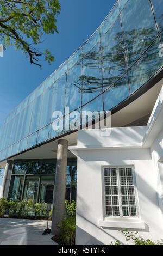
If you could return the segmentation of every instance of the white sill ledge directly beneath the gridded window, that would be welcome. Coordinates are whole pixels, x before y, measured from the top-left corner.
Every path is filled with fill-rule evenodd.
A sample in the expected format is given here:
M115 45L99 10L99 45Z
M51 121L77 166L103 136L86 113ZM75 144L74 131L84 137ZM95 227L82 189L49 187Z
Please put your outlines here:
M146 223L145 222L140 222L140 221L99 221L99 226L103 228L129 228L129 229L146 229Z

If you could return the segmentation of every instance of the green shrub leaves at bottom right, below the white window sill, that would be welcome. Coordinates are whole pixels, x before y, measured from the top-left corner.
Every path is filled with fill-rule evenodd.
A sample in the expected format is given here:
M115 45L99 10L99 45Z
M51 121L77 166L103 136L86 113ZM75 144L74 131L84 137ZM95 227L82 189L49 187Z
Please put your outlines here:
M132 231L128 231L127 229L125 230L121 230L120 231L126 238L126 241L134 241L135 245L163 245L163 240L161 239L162 242L157 241L154 242L151 239L143 239L141 236L137 236L137 234L139 233L139 231L136 232L132 232ZM119 240L116 240L115 243L111 242L111 245L122 245L122 243Z

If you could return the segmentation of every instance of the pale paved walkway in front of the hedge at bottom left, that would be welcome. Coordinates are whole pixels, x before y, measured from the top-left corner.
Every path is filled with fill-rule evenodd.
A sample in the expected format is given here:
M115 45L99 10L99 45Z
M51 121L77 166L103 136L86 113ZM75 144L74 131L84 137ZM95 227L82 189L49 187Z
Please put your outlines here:
M0 245L57 245L51 235L42 235L46 227L47 221L0 218Z

